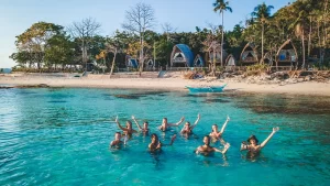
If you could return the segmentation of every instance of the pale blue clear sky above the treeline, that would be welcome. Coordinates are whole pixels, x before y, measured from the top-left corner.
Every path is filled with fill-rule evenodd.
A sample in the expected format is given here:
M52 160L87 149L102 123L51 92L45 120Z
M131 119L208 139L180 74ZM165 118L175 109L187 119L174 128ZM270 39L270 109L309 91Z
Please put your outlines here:
M177 32L195 31L196 26L221 24L221 17L213 12L216 0L0 0L0 68L15 63L9 56L15 52L15 36L33 23L45 21L63 26L74 21L94 18L101 23L101 35L111 35L122 30L125 11L139 2L151 4L157 24L154 31L162 32L162 24L170 23ZM273 13L293 0L228 0L233 12L224 13L224 30L244 22L254 7L265 2L273 6Z

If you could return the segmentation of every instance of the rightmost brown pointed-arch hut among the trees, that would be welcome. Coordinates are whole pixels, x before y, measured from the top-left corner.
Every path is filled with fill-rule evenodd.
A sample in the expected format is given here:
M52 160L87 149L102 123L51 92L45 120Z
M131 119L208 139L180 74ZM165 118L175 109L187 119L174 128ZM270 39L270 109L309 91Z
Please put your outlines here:
M278 66L297 66L298 54L297 50L292 42L292 40L287 40L283 43L276 54L276 68Z

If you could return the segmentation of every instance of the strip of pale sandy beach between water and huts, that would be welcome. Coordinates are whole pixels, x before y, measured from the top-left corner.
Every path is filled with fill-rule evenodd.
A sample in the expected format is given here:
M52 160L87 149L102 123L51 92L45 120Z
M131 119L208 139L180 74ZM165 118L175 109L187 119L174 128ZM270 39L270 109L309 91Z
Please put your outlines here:
M50 87L64 88L117 88L117 89L148 89L188 91L185 86L222 86L228 84L224 90L235 90L252 94L288 94L330 97L330 84L317 81L304 81L297 84L249 84L237 83L231 79L183 79L170 78L111 78L103 75L90 77L34 77L25 75L0 76L0 85L7 86L33 86L45 84Z

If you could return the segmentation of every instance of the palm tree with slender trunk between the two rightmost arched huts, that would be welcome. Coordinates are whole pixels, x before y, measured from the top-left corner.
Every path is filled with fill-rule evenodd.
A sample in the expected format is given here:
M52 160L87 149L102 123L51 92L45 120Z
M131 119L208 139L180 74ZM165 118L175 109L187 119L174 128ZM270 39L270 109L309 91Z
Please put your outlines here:
M266 6L265 3L258 4L254 8L254 11L251 13L252 17L256 19L257 22L262 24L262 56L264 56L264 30L265 22L271 18L271 10L274 9L273 6ZM263 63L263 57L262 62Z

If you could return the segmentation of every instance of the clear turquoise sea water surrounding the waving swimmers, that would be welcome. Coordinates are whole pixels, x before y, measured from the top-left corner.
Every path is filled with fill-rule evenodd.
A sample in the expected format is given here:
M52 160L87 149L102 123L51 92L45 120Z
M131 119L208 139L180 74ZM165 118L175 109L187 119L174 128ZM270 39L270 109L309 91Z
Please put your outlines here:
M0 185L330 184L330 98L110 89L1 89L0 98ZM147 152L143 135L109 150L117 114L122 124L131 114L146 119L166 143L180 128L161 133L163 117L194 122L198 112L196 136L178 136L158 155ZM227 155L195 155L227 114ZM242 141L251 134L263 141L275 125L280 130L257 160L240 153Z

